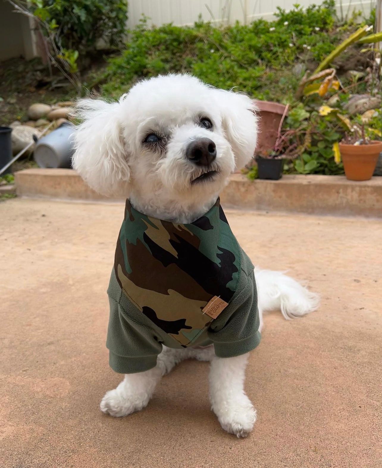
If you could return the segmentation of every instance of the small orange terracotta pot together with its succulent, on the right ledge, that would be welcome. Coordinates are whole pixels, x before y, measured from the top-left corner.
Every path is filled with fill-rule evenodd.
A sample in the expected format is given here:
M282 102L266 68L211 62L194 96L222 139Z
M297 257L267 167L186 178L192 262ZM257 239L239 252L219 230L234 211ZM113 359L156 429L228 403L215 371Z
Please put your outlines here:
M369 180L373 176L382 141L371 140L365 135L364 125L355 125L351 135L339 143L339 152L349 180Z

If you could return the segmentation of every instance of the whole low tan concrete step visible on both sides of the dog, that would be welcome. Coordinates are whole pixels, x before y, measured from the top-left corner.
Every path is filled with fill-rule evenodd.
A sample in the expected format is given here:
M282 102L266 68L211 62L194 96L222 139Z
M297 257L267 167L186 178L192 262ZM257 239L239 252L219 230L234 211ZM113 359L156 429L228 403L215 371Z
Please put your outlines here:
M19 197L122 201L90 189L72 169L25 169L14 174ZM250 181L233 174L221 194L232 208L382 218L382 177L354 182L345 176L283 176Z

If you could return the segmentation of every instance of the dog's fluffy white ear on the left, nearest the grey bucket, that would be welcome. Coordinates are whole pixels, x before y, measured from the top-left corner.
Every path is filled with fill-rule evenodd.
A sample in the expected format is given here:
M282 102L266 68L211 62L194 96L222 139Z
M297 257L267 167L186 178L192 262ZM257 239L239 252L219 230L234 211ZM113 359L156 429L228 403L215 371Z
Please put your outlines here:
M82 99L75 115L82 123L74 137L73 169L97 192L127 197L130 169L122 137L121 104Z

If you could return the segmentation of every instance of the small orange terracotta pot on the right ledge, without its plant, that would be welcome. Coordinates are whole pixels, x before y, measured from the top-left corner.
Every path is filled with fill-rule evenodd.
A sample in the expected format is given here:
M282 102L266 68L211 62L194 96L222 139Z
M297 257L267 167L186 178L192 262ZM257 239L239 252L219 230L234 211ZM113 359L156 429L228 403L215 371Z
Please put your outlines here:
M349 180L369 180L373 176L382 141L371 141L368 145L339 144L345 175Z

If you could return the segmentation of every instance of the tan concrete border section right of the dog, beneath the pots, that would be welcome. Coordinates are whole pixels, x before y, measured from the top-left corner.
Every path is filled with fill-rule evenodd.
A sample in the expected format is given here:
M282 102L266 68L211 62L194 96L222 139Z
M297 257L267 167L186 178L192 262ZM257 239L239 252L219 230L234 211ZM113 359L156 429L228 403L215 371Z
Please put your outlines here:
M246 209L382 218L382 177L356 182L345 176L289 175L249 181L234 174L225 205Z

